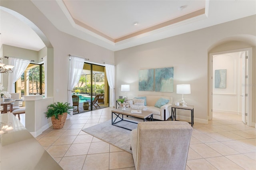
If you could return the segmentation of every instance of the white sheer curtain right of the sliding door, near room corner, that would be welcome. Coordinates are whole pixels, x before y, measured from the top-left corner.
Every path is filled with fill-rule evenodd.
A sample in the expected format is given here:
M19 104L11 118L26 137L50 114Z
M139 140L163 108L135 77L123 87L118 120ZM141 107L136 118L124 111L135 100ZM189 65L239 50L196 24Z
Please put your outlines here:
M108 85L112 89L112 106L116 106L115 99L115 65L105 64Z

